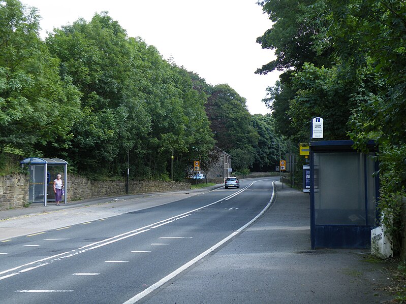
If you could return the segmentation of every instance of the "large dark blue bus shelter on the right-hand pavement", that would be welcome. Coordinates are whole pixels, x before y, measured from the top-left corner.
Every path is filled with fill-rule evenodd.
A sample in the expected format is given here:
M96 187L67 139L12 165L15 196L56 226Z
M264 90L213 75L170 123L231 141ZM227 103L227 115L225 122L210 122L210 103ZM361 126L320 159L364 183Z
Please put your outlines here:
M368 248L377 226L377 147L369 153L353 141L310 143L311 248Z

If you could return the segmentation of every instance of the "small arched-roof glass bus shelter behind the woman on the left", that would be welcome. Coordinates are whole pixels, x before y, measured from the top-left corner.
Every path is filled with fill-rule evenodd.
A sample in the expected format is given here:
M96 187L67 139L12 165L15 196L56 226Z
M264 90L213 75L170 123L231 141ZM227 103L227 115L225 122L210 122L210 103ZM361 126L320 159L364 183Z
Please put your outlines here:
M68 162L60 158L30 157L22 160L21 165L27 165L29 171L28 201L43 203L55 201L53 181L60 174L65 185L65 195L62 196L65 204L68 190L66 187Z

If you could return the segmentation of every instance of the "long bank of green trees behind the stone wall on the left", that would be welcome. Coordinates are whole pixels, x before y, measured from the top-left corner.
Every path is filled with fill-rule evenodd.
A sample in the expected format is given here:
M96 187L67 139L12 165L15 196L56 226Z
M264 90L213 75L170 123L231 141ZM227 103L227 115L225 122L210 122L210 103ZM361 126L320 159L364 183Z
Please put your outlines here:
M39 18L17 0L0 2L0 153L63 158L98 180L127 168L134 179L169 180L172 151L181 180L194 160L208 169L215 144L237 169L274 161L272 119L254 119L230 86L164 60L106 12L45 42Z

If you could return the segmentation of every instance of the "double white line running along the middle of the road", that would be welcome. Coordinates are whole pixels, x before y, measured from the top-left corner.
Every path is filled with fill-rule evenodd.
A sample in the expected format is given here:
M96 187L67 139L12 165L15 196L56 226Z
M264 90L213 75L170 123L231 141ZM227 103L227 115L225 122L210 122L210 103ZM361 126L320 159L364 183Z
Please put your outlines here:
M260 180L258 180L258 181L260 181ZM251 185L253 185L254 183L256 183L258 181L255 181L255 182L249 184L246 188L250 187ZM243 190L245 190L246 188L244 188ZM240 190L240 191L238 191L236 193L241 193L241 192L242 191ZM23 267L28 266L28 265L33 265L33 264L36 264L36 263L38 264L37 266L25 268L25 269L22 269L22 270L20 270L18 272L15 272L15 273L0 277L0 281L4 280L4 279L7 279L7 278L10 278L10 277L13 277L15 275L24 273L26 271L30 271L32 269L48 265L50 263L53 263L53 262L56 262L56 261L59 261L59 260L65 259L65 258L69 258L69 257L75 256L75 255L80 254L80 253L87 252L89 250L97 249L97 248L100 248L100 247L103 247L103 246L106 246L106 245L109 245L109 244L112 244L112 243L115 243L115 242L130 238L130 237L133 237L134 235L149 231L149 230L151 230L153 228L160 227L161 225L165 225L166 223L176 221L176 220L180 219L183 216L193 214L196 211L199 211L201 209L204 209L204 208L210 207L212 205L215 205L218 202L222 202L225 199L231 198L232 196L235 196L236 193L228 195L228 196L226 196L224 198L221 198L219 200L216 200L214 202L211 202L210 204L207 204L205 206L196 208L194 210L191 210L191 211L188 211L188 212L173 216L171 218L168 218L168 219L165 219L165 220L162 220L162 221L159 221L159 222L156 222L156 223L153 223L153 224L150 224L150 225L147 225L147 226L135 229L135 230L131 230L131 231L128 231L128 232L124 232L124 233L115 235L114 237L111 237L111 238L108 238L108 239L105 239L105 240L102 240L102 241L98 241L98 242L95 242L95 243L92 243L92 244L82 246L82 247L80 247L78 249L74 249L74 250L71 250L71 251L68 251L68 252L56 254L56 255L46 257L46 258L43 258L43 259L40 259L40 260L37 260L37 261L29 262L29 263L26 263L26 264L23 264L23 265L20 265L20 266L16 266L14 268L7 269L5 271L0 272L0 275L7 274L9 272L15 271L15 270L17 270L19 268L23 268ZM272 197L273 197L273 193L272 193ZM55 229L55 230L68 229L68 228L71 228L71 227L72 226L67 226L67 227L58 228L58 229ZM1 242L9 242L9 241L11 241L11 240L4 240L4 241L1 241ZM76 250L78 250L78 251L76 251ZM44 262L44 261L46 261L46 262Z

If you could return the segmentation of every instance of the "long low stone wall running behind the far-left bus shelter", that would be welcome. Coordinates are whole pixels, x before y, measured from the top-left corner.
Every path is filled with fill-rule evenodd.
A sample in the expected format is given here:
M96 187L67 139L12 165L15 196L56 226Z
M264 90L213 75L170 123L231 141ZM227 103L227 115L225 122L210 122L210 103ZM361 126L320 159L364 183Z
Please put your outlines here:
M20 208L28 203L29 181L25 175L8 175L0 177L0 211ZM48 187L52 187L50 184ZM65 185L67 200L84 200L99 197L126 195L124 181L91 181L69 175ZM129 193L151 193L165 191L189 190L190 183L163 181L130 181Z

